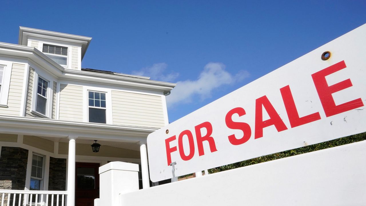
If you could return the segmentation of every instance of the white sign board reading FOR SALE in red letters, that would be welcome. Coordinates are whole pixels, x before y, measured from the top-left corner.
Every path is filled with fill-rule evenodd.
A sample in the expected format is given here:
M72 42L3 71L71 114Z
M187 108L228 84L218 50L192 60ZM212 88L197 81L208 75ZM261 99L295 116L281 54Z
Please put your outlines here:
M150 179L365 132L365 101L363 25L151 133Z

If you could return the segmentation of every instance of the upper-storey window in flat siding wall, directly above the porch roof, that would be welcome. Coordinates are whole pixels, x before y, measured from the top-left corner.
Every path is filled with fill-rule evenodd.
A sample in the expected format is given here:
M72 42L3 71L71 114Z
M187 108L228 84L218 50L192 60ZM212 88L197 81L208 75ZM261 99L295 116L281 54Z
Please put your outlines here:
M88 92L89 122L106 123L105 93Z

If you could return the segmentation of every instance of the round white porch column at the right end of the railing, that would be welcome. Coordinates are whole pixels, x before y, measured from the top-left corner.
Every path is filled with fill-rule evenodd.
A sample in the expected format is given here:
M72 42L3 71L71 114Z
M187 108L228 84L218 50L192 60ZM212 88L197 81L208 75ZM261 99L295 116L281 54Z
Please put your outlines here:
M77 136L69 135L69 153L67 165L67 206L75 206L75 140Z

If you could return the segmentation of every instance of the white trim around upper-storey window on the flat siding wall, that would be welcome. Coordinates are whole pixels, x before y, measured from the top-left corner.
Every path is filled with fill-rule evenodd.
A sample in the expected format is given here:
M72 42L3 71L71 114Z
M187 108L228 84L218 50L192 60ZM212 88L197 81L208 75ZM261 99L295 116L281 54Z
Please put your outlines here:
M80 85L79 85L80 86ZM113 124L112 119L112 92L111 89L108 88L100 88L100 87L86 87L83 86L83 104L85 105L83 108L83 120L84 122L89 122L89 96L88 92L101 92L105 93L105 124ZM103 107L92 107L92 108L103 108ZM90 122L93 123L93 122Z

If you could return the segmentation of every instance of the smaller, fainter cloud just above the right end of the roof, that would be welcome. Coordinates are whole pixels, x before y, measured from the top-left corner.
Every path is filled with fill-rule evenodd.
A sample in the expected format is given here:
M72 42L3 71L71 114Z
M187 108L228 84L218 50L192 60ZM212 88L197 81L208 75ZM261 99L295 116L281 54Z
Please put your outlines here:
M166 63L157 63L153 64L151 67L145 67L140 71L132 71L132 74L150 77L152 80L172 82L179 76L179 73L172 72L169 74L163 74L167 67L168 65Z

